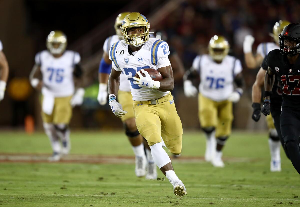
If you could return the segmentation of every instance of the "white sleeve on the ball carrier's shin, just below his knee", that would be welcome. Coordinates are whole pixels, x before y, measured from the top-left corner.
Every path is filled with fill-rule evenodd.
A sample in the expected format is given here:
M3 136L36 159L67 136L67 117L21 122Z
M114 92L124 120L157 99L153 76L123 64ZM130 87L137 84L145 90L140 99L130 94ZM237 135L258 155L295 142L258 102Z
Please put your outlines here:
M158 166L158 168L162 168L163 166L171 162L171 159L169 155L166 153L166 151L163 149L161 142L153 144L150 148L151 148L152 157L154 159L155 164Z

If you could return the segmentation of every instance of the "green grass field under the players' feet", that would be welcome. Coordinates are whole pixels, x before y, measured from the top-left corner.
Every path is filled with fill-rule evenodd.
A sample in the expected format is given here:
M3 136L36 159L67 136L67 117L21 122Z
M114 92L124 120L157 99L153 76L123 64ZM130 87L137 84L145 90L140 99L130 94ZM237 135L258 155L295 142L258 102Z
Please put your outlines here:
M71 134L71 154L133 155L122 132ZM0 162L0 206L300 206L299 174L283 150L282 172L271 173L267 133L233 132L223 151L225 168L201 161L205 138L184 132L182 158L172 160L187 187L137 178L134 164ZM51 153L44 133L0 133L0 155ZM188 161L184 157L199 157Z

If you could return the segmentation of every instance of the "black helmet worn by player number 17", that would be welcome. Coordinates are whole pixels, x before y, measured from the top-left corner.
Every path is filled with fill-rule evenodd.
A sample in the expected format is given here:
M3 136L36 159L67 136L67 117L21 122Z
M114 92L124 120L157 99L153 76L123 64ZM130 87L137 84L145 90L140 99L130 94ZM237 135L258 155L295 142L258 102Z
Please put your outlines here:
M296 46L285 46L284 40L296 42ZM296 55L300 53L300 24L291 23L287 25L279 35L280 53L283 55Z

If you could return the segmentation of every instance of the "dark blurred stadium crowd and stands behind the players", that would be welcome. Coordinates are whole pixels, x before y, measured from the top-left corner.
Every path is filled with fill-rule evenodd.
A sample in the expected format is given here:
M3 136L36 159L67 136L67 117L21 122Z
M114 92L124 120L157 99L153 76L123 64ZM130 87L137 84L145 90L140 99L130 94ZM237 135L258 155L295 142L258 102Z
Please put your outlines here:
M28 120L28 115L30 115L30 117L33 117L33 120L35 120L35 125L41 129L40 106L38 103L39 95L38 92L32 90L28 77L34 65L35 54L41 49L46 49L46 35L54 29L60 29L66 33L69 40L69 48L78 51L82 55L83 68L86 71L85 102L81 108L75 109L71 127L110 128L110 121L107 120L120 121L110 112L108 104L107 106L100 106L98 104L98 65L95 66L95 64L92 65L88 63L94 61L99 64L104 40L107 36L114 34L113 24L116 15L124 10L131 10L130 5L135 4L136 7L133 7L134 11L137 10L147 16L151 25L150 31L162 32L169 45L176 49L186 70L191 67L193 59L197 54L207 53L208 42L212 36L223 35L229 40L231 45L229 54L241 60L244 69L243 74L246 80L246 92L244 93L243 100L235 105L235 109L237 112L245 112L244 115L249 117L243 118L244 124L238 124L238 122L235 121L233 127L251 128L253 124L247 123L253 122L250 118L252 113L250 98L251 87L255 81L258 69L247 69L244 64L244 37L247 34L252 34L255 37L256 40L253 45L253 51L256 51L259 43L273 41L269 33L272 32L274 23L278 20L300 22L300 16L298 15L300 1L297 0L156 0L152 1L149 7L145 7L144 5L147 3L143 1L132 1L129 6L125 5L124 7L124 4L121 4L123 1L116 1L116 4L114 4L117 5L115 12L104 11L102 8L102 13L99 12L101 11L101 2L95 0L85 1L85 3L83 3L83 1L70 3L70 1L67 0L49 0L44 1L44 4L34 0L18 0L16 2L9 3L8 0L0 2L0 7L2 7L0 11L3 11L0 12L0 16L3 15L6 19L11 17L11 15L8 14L9 9L21 11L14 20L0 21L2 28L0 31L0 39L3 42L4 52L7 55L11 69L7 83L6 97L0 106L1 127L23 126L24 120ZM51 16L51 18L48 17L47 21L52 19L51 24L46 22L45 24L41 23L43 21L41 11L43 11L43 8L47 7L47 5L52 5L52 7L58 8L59 10L60 4L62 4L65 9L68 4L73 4L74 7L77 3L79 5L78 7L86 5L89 9L80 10L77 8L76 12L65 10L64 15L68 16L65 17L65 19L62 19L61 15L58 15L58 18L55 18L55 15L54 18L48 15ZM166 8L166 5L170 4L172 4L173 7ZM98 7L98 10L95 10L95 7ZM8 9L8 11L5 12L4 10L6 9ZM81 11L82 13L79 14ZM88 13L90 13L90 16L86 16ZM38 17L38 14L41 15L41 19L33 20L34 17ZM99 18L96 18L97 15ZM159 18L155 18L156 16L159 16ZM18 18L20 22L16 23L19 21ZM72 18L74 21L71 20ZM81 22L79 22L80 18L82 19ZM85 21L88 18L91 19L90 22ZM4 21L6 22L4 23ZM70 21L72 23L69 24ZM79 22L80 25L77 24L76 26L76 21ZM55 22L57 26L55 26ZM85 22L86 25L84 25ZM19 28L8 29L10 34L13 34L8 37L8 35L5 34L5 28L11 27L11 25L9 25L10 23ZM102 28L100 26L104 24L105 28L103 29L103 26ZM98 42L94 44L91 42L86 43L87 37L94 36L97 38L97 31L99 30L102 32L99 33L103 36L102 39L98 38ZM13 41L16 35L23 35L24 37ZM24 39L26 41L24 41ZM80 47L80 45L84 46ZM93 48L91 51L86 52L86 48L89 47L89 45L93 45ZM98 46L94 47L95 45ZM24 54L24 51L26 51L26 54ZM23 68L22 65L24 66ZM194 115L192 118L188 117L190 114L184 112L184 108L182 107L182 103L185 103L182 81L178 80L175 84L178 94L177 101L179 102L176 103L176 105L179 115L182 118L183 126L199 127L197 115ZM247 103L246 106L245 103ZM193 107L197 107L196 99ZM188 119L191 120L190 122L193 122L193 124L190 124L188 121L185 122L185 120ZM235 116L235 119L238 120L238 117ZM120 124L119 126L122 127Z

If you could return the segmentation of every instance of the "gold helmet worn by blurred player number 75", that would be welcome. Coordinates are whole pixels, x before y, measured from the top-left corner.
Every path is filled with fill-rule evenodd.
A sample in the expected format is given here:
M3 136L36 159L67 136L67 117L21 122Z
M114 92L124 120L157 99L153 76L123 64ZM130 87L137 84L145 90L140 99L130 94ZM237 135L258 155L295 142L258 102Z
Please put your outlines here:
M52 31L47 37L46 45L52 54L62 54L67 48L67 36L62 31Z

